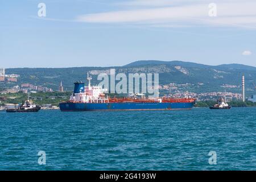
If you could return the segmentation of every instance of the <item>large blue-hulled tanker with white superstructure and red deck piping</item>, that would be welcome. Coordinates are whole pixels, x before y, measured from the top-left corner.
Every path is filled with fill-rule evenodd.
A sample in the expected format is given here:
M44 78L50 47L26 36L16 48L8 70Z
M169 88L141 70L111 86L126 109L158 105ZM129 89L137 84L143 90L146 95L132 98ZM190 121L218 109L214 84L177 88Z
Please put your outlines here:
M144 94L132 97L111 98L100 86L91 86L89 82L75 82L73 94L67 102L61 102L61 111L118 111L118 110L181 110L192 109L195 98L146 98Z

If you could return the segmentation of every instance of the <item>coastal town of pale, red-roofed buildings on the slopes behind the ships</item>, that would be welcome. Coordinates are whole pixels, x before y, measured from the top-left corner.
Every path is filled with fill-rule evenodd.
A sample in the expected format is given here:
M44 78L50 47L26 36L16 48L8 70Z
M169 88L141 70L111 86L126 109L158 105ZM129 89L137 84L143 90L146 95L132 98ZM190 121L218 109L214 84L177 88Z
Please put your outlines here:
M5 103L7 101L7 98L16 98L16 93L31 93L35 94L35 96L32 96L31 98L33 100L48 100L50 99L50 103L43 103L47 107L51 107L52 103L55 102L55 100L59 101L60 99L67 100L68 94L72 92L72 90L65 90L65 92L68 92L68 94L56 94L56 93L65 93L64 92L64 86L63 82L60 80L59 87L57 90L53 90L52 88L48 88L46 86L42 85L34 85L29 82L21 83L21 84L15 84L18 82L18 79L20 78L20 75L5 74L5 69L0 69L0 83L1 82L11 82L14 84L11 88L2 88L0 90L0 104ZM191 88L196 86L204 86L203 82L198 82L196 85L191 83L184 83L184 84L177 84L175 82L171 82L170 84L164 84L159 85L159 92L163 96L171 97L171 98L196 98L197 101L215 101L217 98L222 97L226 95L226 101L241 101L243 100L243 93L242 93L242 85L230 85L230 84L224 84L221 85L218 90L218 92L189 92L188 90L191 90ZM241 90L240 93L238 92L226 92L224 90L226 89L236 89ZM36 93L44 93L42 94L36 94ZM48 93L48 94L47 94ZM49 94L52 93L52 94ZM245 98L246 101L256 102L256 95L252 95L251 97ZM10 99L9 99L10 101ZM57 102L55 102L57 103Z

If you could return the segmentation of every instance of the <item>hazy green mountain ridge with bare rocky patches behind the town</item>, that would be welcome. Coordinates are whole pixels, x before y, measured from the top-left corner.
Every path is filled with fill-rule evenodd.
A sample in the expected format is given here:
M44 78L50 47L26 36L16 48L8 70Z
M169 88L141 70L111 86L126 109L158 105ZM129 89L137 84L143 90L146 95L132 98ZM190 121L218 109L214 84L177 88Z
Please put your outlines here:
M230 92L241 92L241 78L245 75L246 93L255 93L256 67L242 64L204 65L187 61L141 60L122 67L73 67L73 68L10 68L6 74L18 74L18 82L0 82L0 88L31 83L58 90L60 81L65 90L73 89L73 82L86 80L86 73L92 75L92 84L97 84L99 73L109 73L114 68L117 73L159 73L159 84L186 84L180 88L189 92L224 91L229 85Z

